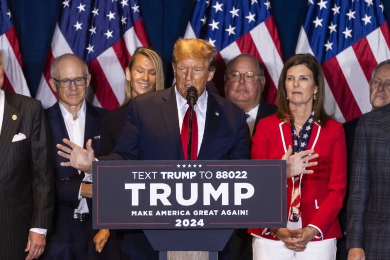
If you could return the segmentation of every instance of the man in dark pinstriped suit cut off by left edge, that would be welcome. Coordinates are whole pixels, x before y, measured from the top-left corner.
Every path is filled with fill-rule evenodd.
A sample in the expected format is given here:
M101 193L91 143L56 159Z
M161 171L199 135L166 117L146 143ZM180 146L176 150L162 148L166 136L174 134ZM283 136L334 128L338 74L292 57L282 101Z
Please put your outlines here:
M44 250L54 208L47 126L38 100L3 90L0 52L0 259Z

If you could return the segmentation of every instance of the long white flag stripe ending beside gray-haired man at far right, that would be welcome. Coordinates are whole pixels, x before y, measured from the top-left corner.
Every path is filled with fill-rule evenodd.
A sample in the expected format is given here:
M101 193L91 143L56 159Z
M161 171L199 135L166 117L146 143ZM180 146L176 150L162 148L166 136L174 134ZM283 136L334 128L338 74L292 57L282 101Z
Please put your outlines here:
M337 54L336 59L360 111L363 114L369 112L371 110L369 83L352 46Z

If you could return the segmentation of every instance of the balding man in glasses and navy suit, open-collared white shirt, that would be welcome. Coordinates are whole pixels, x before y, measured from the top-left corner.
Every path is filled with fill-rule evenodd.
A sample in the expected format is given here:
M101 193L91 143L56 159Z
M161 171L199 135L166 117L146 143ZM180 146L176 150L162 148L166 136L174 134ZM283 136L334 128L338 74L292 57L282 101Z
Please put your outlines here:
M50 85L59 100L45 111L52 143L66 138L80 146L99 151L100 123L104 109L84 100L91 80L88 66L74 54L53 60ZM54 150L57 150L53 147ZM52 148L52 149L53 149ZM99 259L92 230L92 176L70 167L61 167L64 159L55 156L56 203L54 232L48 236L43 259Z

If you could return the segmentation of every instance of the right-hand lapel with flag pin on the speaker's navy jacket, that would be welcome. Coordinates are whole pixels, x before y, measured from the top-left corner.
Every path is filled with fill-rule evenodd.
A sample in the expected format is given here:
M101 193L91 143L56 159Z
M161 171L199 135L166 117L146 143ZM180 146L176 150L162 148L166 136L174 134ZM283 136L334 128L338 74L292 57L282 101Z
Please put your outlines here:
M217 139L218 129L220 125L220 120L222 117L223 110L219 107L217 101L213 97L213 94L208 91L207 99L207 110L206 110L206 120L204 126L203 140L200 145L199 160L204 160L208 158L207 152L209 152L210 143L214 143L214 140Z

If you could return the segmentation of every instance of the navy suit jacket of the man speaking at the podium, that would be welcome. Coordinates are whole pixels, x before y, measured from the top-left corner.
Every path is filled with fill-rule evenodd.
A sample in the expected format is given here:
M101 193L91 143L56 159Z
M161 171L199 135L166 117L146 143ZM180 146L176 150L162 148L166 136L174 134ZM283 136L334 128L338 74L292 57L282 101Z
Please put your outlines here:
M103 160L184 160L175 87L138 96L114 153ZM205 130L198 160L250 159L244 140L244 112L208 93Z

